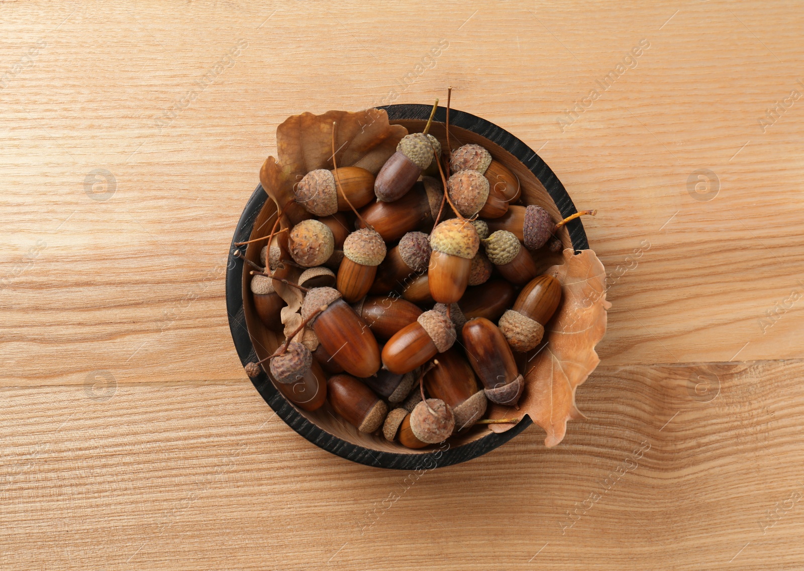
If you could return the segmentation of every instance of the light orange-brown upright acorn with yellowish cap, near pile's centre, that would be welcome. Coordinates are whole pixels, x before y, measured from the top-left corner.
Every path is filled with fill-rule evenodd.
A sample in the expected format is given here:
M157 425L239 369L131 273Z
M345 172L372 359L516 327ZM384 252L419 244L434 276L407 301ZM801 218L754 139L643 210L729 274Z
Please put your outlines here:
M468 220L451 218L433 229L430 246L430 295L441 304L452 304L469 283L472 258L480 247L478 232Z

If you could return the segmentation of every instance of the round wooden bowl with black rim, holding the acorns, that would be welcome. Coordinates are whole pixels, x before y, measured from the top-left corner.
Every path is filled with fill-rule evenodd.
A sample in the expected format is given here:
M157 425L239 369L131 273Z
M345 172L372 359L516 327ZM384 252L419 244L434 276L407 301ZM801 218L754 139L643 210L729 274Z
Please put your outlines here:
M411 133L421 131L429 116L429 105L388 105L388 118L392 124L402 124ZM445 145L445 108L438 108L430 133ZM449 136L453 148L466 143L478 143L488 149L494 159L502 162L519 177L522 186L523 204L538 204L547 209L554 219L565 218L576 212L564 186L539 156L522 141L503 128L470 113L451 109L449 112ZM267 235L273 223L277 207L258 185L240 217L230 247L226 274L226 304L229 327L240 361L245 365L267 357L280 345L281 333L270 331L256 316L249 289L248 266L232 255L234 243ZM564 247L582 250L589 247L580 219L561 228L559 238ZM244 254L259 263L263 244L251 244ZM543 268L560 263L560 255L550 255L546 249L540 252L539 265ZM422 450L410 450L399 443L389 443L382 434L362 434L337 414L331 414L329 403L314 412L293 406L283 397L273 381L265 373L252 379L256 390L265 402L277 412L288 426L318 447L342 458L367 466L394 468L397 470L433 469L465 462L507 443L531 425L524 418L511 430L502 434L490 432L486 426L474 426L442 445L433 445Z

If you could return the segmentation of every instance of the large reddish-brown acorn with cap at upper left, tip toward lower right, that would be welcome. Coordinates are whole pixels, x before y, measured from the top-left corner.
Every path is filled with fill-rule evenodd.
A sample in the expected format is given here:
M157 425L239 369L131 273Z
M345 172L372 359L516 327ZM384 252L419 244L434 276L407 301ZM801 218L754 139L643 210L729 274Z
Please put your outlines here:
M309 318L324 305L326 309L310 320L318 341L347 373L371 377L379 369L379 346L366 322L341 299L338 290L314 288L307 292L301 318Z

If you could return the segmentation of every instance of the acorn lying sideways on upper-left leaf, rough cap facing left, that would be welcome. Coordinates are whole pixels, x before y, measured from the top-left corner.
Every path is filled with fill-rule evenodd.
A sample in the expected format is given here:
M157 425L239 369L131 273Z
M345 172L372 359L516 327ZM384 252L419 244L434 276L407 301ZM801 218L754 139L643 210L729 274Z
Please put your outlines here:
M342 166L337 171L343 193L335 186L335 169L316 169L294 186L296 202L316 216L330 216L338 210L351 210L349 202L360 208L374 200L373 174L359 166Z

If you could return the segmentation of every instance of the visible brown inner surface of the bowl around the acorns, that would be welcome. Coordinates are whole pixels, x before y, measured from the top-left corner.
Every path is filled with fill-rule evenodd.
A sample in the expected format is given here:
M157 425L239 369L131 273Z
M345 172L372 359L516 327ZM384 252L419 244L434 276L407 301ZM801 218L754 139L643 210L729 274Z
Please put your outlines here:
M404 127L408 128L408 132L410 133L420 132L423 130L426 123L425 120L391 120L390 122L392 124L404 125ZM446 133L443 124L433 123L430 128L430 133L437 137L439 141L441 141L441 145L446 148ZM548 194L548 191L545 190L539 179L535 177L535 174L532 173L526 165L523 165L519 159L514 157L514 155L509 153L506 149L503 149L503 147L497 145L493 141L490 141L486 137L482 137L481 135L478 135L477 133L474 133L466 128L460 128L453 125L450 125L449 136L450 145L453 149L467 143L477 143L486 147L494 159L502 162L503 165L506 165L508 169L511 169L511 171L515 173L517 177L519 177L519 182L522 188L522 196L520 199L522 204L535 204L542 206L544 209L548 210L554 219L560 220L563 218L560 214L559 208L556 206L556 203L552 200L550 194ZM257 214L254 220L249 239L256 239L269 235L273 222L276 220L276 214L277 206L272 200L266 200L265 204L262 206L259 214ZM560 229L558 238L562 241L562 243L564 243L564 247L572 247L572 242L565 226ZM249 244L247 250L245 251L246 258L259 264L260 249L263 245L263 243ZM536 252L534 259L540 269L544 270L547 267L555 265L556 263L560 263L561 256L552 254L545 248L543 251ZM242 279L244 317L248 327L248 334L256 352L256 357L263 359L268 357L277 349L277 347L283 341L283 338L280 333L275 333L270 331L268 328L265 328L265 325L262 324L256 314L250 291L250 280L252 278L252 276L248 273L250 269L251 268L248 266L244 266ZM324 379L321 381L326 382ZM282 397L280 396L279 398ZM433 452L433 447L427 447L420 450L411 450L403 447L399 443L389 443L381 434L363 434L359 432L355 426L351 426L351 424L345 422L343 418L340 418L338 414L332 410L329 402L326 402L324 406L318 410L314 410L313 412L301 410L296 406L293 406L293 408L297 410L298 414L301 414L302 417L312 422L315 426L318 426L319 429L325 431L327 434L340 438L341 440L351 443L355 446L364 447L369 451L393 452L402 455L427 455ZM517 428L519 428L519 426ZM522 428L524 428L524 426L522 426ZM466 431L465 434L460 434L450 438L449 446L452 450L454 450L456 448L465 446L467 443L473 443L480 438L490 438L492 435L493 434L487 429L486 426L474 426L472 429Z

